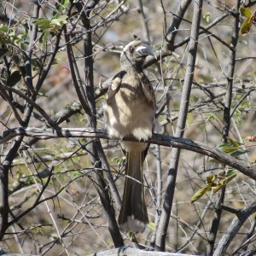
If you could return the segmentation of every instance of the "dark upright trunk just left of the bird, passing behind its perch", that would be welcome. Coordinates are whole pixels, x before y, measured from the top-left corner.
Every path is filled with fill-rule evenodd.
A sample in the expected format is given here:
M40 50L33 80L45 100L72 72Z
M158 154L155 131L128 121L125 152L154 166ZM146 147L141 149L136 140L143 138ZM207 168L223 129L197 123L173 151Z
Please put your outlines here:
M90 129L96 131L96 101L94 97L94 59L93 59L93 44L92 44L92 31L90 24L90 11L96 7L98 0L91 1L90 4L83 10L81 3L77 3L76 7L81 13L81 21L84 25L86 31L84 35L84 100L88 102L88 107L90 108L90 113L87 113L87 119L90 125ZM109 170L108 160L104 154L102 143L99 139L89 143L88 149L91 152L90 160L91 162L98 167L105 166ZM110 170L109 170L110 171ZM100 196L102 202L102 208L104 211L104 217L108 223L108 230L112 236L113 243L115 247L124 246L124 241L119 231L118 224L116 222L114 208L111 201L111 198L108 194L107 183L105 181L103 172L96 172L96 181L97 181L97 192ZM113 198L116 203L119 205L120 197L118 190L113 181L113 176L111 172L107 172L108 183L110 190L112 192Z

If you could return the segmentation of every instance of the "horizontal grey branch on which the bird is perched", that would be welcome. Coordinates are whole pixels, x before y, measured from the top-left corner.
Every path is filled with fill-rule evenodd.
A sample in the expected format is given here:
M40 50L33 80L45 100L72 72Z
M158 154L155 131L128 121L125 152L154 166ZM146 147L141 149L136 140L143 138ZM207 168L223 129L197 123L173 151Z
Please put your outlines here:
M50 139L57 137L95 137L110 139L108 134L104 131L96 130L90 131L84 128L60 128L55 129L40 129L33 127L19 127L15 129L10 129L9 131L3 131L3 136L0 136L0 144L8 142L13 137L26 136L26 137L38 137L40 139ZM125 137L124 140L134 141L137 140L133 137ZM154 136L146 141L146 143L159 144L166 147L187 149L189 151L194 151L200 154L205 154L212 157L213 159L219 160L220 162L237 169L244 175L251 177L256 180L256 170L243 164L240 160L230 156L229 154L224 154L218 148L213 148L207 144L196 142L188 138L172 137L161 134L154 134Z

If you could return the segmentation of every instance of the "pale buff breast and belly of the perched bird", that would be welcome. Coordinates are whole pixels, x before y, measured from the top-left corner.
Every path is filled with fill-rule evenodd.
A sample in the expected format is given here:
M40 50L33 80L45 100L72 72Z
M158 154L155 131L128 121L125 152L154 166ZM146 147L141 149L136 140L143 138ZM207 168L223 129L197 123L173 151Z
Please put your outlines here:
M144 96L141 83L132 78L123 79L119 90L105 108L111 137L148 139L152 136L154 115L154 108Z

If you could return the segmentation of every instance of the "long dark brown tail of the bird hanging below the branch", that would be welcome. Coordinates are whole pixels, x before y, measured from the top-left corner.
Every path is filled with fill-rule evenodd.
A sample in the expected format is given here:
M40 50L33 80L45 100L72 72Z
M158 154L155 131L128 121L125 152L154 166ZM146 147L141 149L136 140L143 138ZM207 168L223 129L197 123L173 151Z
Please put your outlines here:
M119 227L124 232L143 232L148 212L143 189L143 151L126 152L125 188L119 213Z

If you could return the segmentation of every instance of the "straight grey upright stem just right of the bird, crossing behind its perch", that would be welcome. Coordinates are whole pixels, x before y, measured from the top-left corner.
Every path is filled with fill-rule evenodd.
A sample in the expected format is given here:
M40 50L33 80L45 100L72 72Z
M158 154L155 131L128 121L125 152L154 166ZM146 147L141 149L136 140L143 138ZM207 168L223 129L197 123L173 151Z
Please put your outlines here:
M189 40L189 55L187 61L187 69L183 83L183 90L181 96L181 103L177 119L177 128L175 131L176 137L183 137L186 126L186 120L189 110L189 97L193 84L195 71L195 58L199 37L199 27L201 21L202 0L195 0L193 21L191 26L190 40ZM160 222L156 231L155 246L161 251L166 249L166 236L169 219L172 211L172 201L174 197L174 189L177 177L177 167L179 163L180 148L172 148L170 168L168 170L166 180L166 195L160 215Z

